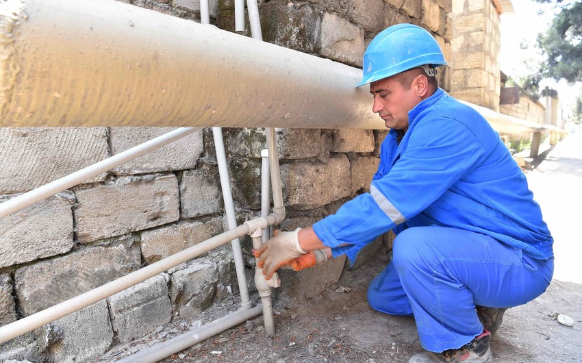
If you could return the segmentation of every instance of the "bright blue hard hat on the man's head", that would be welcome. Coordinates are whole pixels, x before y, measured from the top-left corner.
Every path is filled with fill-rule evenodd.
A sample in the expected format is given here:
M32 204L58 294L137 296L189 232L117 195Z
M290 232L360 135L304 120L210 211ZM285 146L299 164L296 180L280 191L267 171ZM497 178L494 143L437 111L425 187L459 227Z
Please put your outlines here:
M392 25L368 45L364 53L364 75L356 87L427 64L446 66L435 38L417 25Z

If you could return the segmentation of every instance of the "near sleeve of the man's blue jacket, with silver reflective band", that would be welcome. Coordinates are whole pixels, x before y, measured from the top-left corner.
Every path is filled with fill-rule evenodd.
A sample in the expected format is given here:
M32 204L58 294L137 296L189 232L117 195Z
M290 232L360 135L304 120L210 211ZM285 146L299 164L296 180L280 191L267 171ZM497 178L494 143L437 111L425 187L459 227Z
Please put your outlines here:
M333 256L353 263L362 247L425 210L485 155L479 138L453 118L419 123L387 175L372 181L370 192L348 201L314 224Z

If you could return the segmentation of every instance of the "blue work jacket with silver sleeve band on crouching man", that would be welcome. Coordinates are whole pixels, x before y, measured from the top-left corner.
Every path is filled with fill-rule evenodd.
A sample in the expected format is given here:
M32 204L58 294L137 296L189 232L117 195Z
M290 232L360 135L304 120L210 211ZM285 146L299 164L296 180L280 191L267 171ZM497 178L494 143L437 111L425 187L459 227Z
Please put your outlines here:
M408 116L400 144L394 129L383 141L370 192L314 224L334 257L345 253L353 263L390 229L427 225L492 236L540 260L553 256L524 173L479 112L439 88Z

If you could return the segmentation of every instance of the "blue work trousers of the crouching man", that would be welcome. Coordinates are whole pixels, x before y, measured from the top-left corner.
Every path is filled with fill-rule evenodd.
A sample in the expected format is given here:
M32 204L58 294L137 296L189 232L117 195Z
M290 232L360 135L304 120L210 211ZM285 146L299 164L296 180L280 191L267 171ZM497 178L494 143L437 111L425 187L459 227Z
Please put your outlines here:
M414 315L422 347L457 349L483 331L475 305L511 308L541 295L553 258L535 260L494 238L446 227L412 227L394 240L392 262L368 286L368 302Z

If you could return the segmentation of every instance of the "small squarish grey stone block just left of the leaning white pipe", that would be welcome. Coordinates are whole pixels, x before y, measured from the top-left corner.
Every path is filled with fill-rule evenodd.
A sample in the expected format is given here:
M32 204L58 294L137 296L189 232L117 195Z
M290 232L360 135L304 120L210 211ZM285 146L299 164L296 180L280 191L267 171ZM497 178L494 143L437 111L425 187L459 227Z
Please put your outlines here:
M218 168L204 164L184 171L180 181L181 218L218 213L223 203Z

